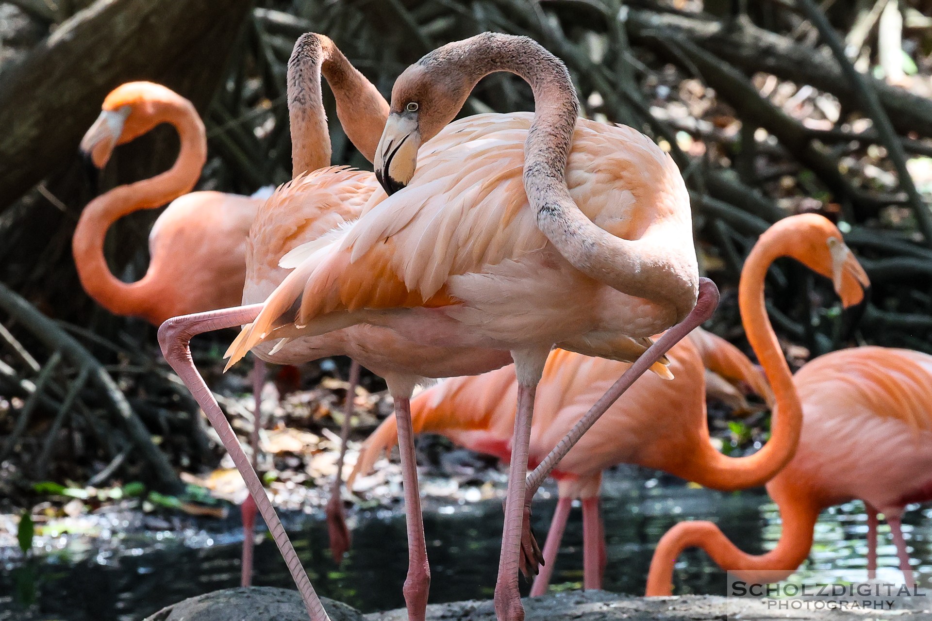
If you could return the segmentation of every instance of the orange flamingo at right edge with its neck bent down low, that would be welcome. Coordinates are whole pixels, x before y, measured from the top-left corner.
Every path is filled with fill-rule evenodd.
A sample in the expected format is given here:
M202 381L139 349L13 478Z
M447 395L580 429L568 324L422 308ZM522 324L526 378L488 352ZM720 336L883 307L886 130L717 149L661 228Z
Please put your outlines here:
M748 263L762 278L775 257L793 256L797 241L791 232L765 233ZM648 595L670 593L674 563L687 547L702 547L720 567L747 580L783 579L809 555L821 510L852 499L868 509L869 577L876 569L879 510L912 584L900 516L905 506L932 500L932 356L885 347L846 349L807 363L793 384L802 401L800 446L767 484L783 520L777 546L754 556L734 547L711 522L681 522L657 545Z

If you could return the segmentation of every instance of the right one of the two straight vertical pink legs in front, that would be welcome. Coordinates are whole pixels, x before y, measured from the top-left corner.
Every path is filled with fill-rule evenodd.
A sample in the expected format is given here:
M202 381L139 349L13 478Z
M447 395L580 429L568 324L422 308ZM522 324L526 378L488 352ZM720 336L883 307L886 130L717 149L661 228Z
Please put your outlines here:
M514 371L518 379L518 404L514 415L512 459L508 469L508 493L505 496L505 524L501 533L499 578L495 584L495 613L499 621L524 621L524 607L518 592L528 488L528 452L534 395L541 381L548 349L513 351Z

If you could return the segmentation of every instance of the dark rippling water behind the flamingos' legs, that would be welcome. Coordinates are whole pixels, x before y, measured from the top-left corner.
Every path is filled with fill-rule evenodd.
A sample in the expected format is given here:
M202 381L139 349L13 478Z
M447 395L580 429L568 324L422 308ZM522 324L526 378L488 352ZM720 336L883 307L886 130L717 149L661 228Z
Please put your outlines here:
M654 483L652 479L617 476L606 481L603 512L608 536L608 590L642 594L652 549L678 520L716 520L738 547L751 553L772 547L779 536L778 513L762 493L724 494ZM431 601L490 598L499 555L500 502L460 506L431 500L427 506ZM552 499L535 504L534 528L541 543L554 506ZM358 515L353 549L341 567L326 551L322 520L292 516L285 521L318 593L346 601L363 612L404 605L401 589L407 561L403 514L383 510ZM904 523L912 559L919 563L917 578L928 585L932 582L932 511L911 511ZM803 574L819 579L865 579L866 530L859 503L823 513L816 546ZM880 533L880 577L898 580L896 552L883 525ZM21 610L14 612L12 602L13 570L18 566L22 571L21 561L8 560L0 574L0 619L24 618ZM552 588L581 587L582 567L580 510L574 508ZM33 570L39 603L29 618L138 621L175 601L239 586L240 541L235 532L200 532L187 537L150 533L103 549L46 552L34 560ZM294 587L270 540L256 547L255 584ZM524 588L527 592L528 586ZM678 593L722 594L724 576L705 554L693 550L680 557L676 589Z

